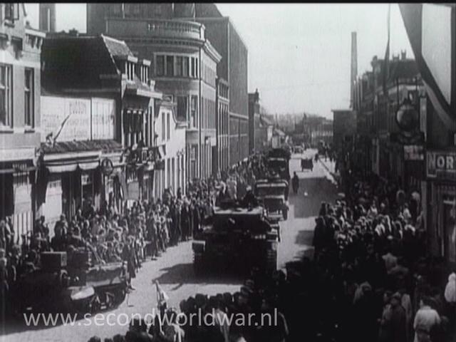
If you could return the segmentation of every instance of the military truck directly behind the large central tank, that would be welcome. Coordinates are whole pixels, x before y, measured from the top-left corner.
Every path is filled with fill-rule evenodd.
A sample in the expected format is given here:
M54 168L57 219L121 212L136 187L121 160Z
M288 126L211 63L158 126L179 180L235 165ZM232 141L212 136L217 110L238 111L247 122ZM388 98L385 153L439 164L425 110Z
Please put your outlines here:
M254 194L266 208L269 220L279 221L288 218L288 190L288 182L279 178L255 182Z

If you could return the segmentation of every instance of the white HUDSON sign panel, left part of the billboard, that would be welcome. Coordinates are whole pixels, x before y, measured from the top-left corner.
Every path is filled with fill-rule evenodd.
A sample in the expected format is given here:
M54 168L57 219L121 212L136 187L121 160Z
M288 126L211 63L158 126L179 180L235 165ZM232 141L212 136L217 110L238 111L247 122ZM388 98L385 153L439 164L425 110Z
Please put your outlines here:
M61 129L57 141L90 140L90 100L41 96L41 141L53 133L54 138Z

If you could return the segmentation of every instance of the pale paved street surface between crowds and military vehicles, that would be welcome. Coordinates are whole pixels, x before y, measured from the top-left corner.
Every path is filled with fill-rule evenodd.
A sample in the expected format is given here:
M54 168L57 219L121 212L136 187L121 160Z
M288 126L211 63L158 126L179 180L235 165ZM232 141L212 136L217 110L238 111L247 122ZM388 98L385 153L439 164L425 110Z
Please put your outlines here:
M313 236L315 214L318 213L321 201L333 201L336 197L336 189L331 182L331 175L326 169L317 163L314 170L301 172L301 157L314 155L314 150L306 150L304 155L293 155L290 161L291 174L297 172L300 178L299 194L293 195L290 191L289 219L281 223L282 241L278 249L278 266L284 267L290 260L299 259L303 254L312 254L311 241ZM163 289L170 297L171 306L179 306L182 299L196 293L217 294L226 291L239 291L242 279L220 279L220 278L197 278L192 271L192 245L191 242L182 243L177 247L171 247L157 261L147 261L143 264L136 279L133 279L133 286L136 290L130 294L117 309L103 313L105 318L110 315L108 323L120 324L108 326L108 323L98 316L89 321L84 319L76 321L74 326L53 326L28 328L21 324L19 326L8 326L0 342L6 341L74 341L86 342L93 335L102 338L112 337L116 333L125 333L128 326L125 322L128 316L133 314L145 315L150 313L156 305L155 286L151 285L152 280L157 279ZM98 323L98 326L96 325ZM0 327L1 331L1 327Z

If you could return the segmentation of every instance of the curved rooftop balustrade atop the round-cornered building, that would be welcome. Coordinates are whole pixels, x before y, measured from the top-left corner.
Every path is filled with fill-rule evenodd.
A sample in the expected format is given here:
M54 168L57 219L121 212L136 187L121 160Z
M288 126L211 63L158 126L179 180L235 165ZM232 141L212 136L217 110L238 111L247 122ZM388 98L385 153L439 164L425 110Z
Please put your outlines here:
M125 38L187 38L204 41L204 25L195 21L107 18L106 34Z

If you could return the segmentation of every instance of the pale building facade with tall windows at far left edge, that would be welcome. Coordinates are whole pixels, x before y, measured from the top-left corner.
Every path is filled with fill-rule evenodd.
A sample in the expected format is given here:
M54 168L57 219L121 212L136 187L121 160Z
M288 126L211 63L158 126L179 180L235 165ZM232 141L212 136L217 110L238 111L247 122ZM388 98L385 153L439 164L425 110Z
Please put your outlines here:
M11 218L22 241L35 218L45 33L26 24L24 4L0 4L0 14L0 219Z

